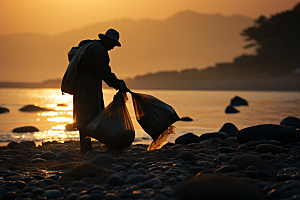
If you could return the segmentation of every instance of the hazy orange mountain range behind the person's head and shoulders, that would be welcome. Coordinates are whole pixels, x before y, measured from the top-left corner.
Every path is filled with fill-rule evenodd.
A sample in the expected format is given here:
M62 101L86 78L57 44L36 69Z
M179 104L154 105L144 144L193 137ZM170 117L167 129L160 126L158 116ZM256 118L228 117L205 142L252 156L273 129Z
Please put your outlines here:
M122 47L110 52L113 72L120 78L162 70L201 69L216 62L229 62L245 52L242 47L246 43L240 32L252 24L253 19L238 15L184 11L162 21L112 20L55 36L2 35L0 81L62 78L69 49L83 39L96 39L98 33L108 28L116 28L121 34Z

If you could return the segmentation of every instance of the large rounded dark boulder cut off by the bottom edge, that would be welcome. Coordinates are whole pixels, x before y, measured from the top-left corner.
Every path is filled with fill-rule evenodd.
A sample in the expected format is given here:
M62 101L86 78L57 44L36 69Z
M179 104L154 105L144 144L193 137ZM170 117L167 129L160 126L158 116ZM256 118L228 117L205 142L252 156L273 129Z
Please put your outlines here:
M205 174L188 179L175 188L180 200L261 200L261 192L238 178L222 174Z

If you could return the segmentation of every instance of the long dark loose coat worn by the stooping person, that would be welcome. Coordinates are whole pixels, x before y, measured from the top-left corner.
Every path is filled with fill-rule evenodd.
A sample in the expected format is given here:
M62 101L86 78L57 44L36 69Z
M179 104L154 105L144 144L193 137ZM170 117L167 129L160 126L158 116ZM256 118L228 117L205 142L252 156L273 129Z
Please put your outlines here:
M74 127L84 130L104 109L102 80L115 89L125 87L123 80L111 72L107 50L100 41L95 42L82 55L78 63L73 96Z

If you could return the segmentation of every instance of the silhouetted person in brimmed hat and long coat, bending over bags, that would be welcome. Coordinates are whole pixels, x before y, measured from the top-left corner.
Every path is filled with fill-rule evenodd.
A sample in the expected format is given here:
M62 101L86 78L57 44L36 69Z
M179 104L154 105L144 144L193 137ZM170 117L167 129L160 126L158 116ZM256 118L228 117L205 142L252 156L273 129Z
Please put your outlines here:
M125 82L118 79L109 66L108 51L115 46L121 46L119 33L109 29L105 34L98 36L100 40L93 41L79 61L74 89L73 118L74 127L80 134L81 154L92 150L91 139L87 138L85 133L86 126L104 109L102 80L116 90L128 91ZM91 40L81 41L78 48L88 42Z

